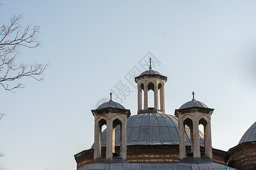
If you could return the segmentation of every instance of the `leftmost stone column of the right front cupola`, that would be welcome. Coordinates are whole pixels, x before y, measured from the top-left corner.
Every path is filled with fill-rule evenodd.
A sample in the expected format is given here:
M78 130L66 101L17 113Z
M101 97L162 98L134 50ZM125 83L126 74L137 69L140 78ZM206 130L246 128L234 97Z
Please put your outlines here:
M183 122L179 121L179 152L180 152L180 159L186 158L186 149L185 149L185 127Z

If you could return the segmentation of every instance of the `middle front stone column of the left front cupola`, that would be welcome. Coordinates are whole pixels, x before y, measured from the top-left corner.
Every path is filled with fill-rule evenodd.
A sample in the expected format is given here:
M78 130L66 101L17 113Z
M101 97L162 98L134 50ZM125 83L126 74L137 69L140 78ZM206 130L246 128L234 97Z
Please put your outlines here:
M113 158L113 122L107 121L106 128L106 159Z

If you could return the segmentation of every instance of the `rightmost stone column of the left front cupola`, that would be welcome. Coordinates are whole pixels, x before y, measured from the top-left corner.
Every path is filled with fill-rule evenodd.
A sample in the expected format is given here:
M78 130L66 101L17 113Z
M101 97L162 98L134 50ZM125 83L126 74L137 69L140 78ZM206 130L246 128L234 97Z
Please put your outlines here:
M122 122L122 125L120 127L120 158L126 159L127 158L127 147L126 147L126 124L127 121Z

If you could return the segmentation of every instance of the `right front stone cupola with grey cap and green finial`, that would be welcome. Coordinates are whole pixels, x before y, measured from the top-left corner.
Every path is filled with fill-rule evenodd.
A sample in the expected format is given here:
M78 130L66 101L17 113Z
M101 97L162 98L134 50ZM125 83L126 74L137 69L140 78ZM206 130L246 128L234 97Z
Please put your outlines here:
M212 162L212 139L210 129L210 116L214 109L210 109L201 101L193 99L175 110L179 120L179 157L181 163L208 163ZM204 126L205 151L200 151L199 125ZM185 125L189 126L191 136L191 153L185 149Z

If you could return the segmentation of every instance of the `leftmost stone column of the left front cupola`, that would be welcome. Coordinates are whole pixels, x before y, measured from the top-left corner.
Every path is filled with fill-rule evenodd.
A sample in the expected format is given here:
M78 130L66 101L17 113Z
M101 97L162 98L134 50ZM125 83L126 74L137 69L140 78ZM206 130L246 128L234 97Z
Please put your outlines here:
M97 122L94 122L94 159L101 158L101 129Z

